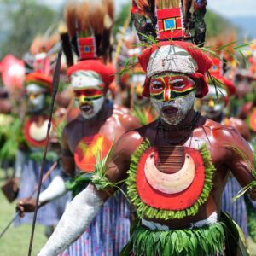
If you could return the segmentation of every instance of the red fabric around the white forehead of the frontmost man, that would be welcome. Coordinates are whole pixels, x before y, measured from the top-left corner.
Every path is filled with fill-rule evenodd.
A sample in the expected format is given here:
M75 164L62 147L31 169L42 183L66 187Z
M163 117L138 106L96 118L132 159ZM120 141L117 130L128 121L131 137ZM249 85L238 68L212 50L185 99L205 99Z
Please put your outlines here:
M154 53L156 49L159 49L160 46L164 45L176 45L177 47L185 49L189 52L189 55L191 55L191 57L196 61L198 66L197 73L189 75L191 78L195 79L195 84L201 85L201 94L198 94L197 97L201 98L203 96L206 96L208 92L208 84L204 75L207 70L212 67L213 63L211 59L194 44L182 41L167 41L159 42L158 44L152 45L150 48L143 50L143 53L138 57L138 60L143 67L143 70L147 72L150 56ZM149 82L150 80L146 79L143 88L143 96L146 97L149 97Z

